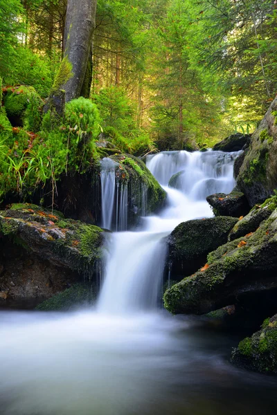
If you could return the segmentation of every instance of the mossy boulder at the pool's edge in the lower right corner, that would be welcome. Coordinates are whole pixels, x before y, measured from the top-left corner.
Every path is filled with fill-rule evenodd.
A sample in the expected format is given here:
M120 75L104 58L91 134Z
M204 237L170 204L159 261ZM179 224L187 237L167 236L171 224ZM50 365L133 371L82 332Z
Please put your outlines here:
M267 318L251 338L240 342L231 361L244 369L277 374L277 314Z

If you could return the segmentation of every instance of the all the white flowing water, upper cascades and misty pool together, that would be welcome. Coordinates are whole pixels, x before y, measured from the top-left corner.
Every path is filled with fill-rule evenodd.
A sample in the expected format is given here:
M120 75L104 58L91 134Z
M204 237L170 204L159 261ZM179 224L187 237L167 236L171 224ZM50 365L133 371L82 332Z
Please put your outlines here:
M226 363L224 350L237 338L202 335L199 320L157 310L163 238L181 221L212 216L209 181L229 192L235 156L179 151L148 159L168 192L167 207L145 217L139 232L108 234L96 310L0 313L2 415L276 414L276 382L257 382ZM167 187L181 170L177 189ZM103 226L110 228L120 200L107 160L101 182Z

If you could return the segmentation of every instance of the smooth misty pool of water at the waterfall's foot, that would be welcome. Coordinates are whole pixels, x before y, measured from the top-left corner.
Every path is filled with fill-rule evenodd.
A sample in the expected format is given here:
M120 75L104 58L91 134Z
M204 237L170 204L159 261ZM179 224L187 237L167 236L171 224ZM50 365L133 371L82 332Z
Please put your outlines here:
M276 415L277 379L199 318L1 311L0 336L2 415Z

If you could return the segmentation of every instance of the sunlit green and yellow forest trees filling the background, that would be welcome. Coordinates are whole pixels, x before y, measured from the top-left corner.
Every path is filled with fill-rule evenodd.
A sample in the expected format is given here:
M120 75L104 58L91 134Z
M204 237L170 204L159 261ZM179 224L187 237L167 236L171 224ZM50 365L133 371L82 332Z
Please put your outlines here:
M46 100L64 54L66 7L0 0L4 100L11 86ZM81 95L96 105L99 131L138 154L252 131L277 91L276 19L273 0L98 0Z

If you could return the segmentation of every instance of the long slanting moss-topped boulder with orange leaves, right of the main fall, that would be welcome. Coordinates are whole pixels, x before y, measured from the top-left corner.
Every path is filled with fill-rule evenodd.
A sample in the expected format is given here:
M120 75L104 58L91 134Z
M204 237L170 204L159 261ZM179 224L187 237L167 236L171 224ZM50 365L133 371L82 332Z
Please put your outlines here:
M277 288L277 209L256 232L208 254L197 273L166 291L172 313L204 314Z

